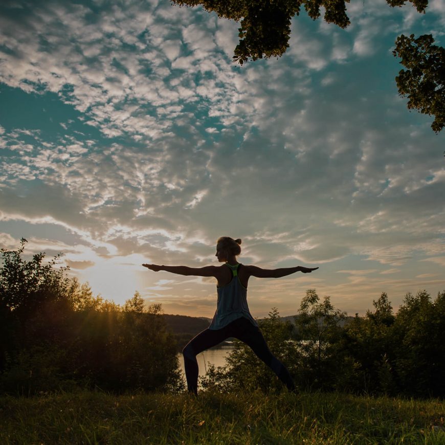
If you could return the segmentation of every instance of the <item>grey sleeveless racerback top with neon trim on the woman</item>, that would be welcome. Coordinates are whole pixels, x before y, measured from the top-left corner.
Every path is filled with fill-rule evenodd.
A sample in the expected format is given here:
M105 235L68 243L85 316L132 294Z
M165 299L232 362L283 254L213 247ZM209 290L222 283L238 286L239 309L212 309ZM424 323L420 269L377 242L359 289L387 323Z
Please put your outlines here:
M247 305L247 288L239 281L238 269L240 265L226 263L226 266L232 271L232 280L225 286L216 287L218 300L209 329L221 329L241 317L247 318L254 326L258 326Z

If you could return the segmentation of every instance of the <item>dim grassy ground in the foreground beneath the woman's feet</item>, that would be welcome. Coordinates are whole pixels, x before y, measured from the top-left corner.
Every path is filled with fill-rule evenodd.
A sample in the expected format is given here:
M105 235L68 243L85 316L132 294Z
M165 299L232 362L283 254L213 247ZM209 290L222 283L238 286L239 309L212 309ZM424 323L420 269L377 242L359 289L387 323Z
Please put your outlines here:
M2 444L445 444L445 402L336 393L0 397Z

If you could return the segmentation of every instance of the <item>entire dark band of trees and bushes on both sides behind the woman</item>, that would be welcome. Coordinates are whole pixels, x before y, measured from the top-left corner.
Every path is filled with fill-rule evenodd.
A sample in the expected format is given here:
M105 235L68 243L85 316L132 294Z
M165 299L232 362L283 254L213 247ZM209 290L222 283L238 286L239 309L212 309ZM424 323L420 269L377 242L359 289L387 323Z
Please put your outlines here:
M54 267L57 257L25 260L25 243L2 250L0 393L184 389L178 341L183 346L197 333L195 318L163 316L160 305L145 308L138 293L122 306L94 297L66 268ZM445 292L434 300L426 291L407 294L397 313L386 293L373 306L351 318L308 290L295 326L276 308L258 322L301 389L443 397ZM198 330L207 326L203 320ZM208 368L203 388L281 389L249 347L235 345L227 366Z

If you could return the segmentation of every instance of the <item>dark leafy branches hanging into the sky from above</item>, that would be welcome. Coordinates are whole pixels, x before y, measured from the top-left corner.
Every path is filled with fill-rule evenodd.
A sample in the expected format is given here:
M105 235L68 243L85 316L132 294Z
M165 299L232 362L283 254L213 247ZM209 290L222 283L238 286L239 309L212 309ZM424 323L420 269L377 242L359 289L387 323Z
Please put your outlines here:
M248 60L281 57L289 47L291 19L304 7L309 17L316 20L324 9L327 23L346 28L350 24L346 13L349 0L171 0L180 6L201 5L208 12L215 12L239 22L239 42L233 60L242 65ZM391 7L402 7L407 0L386 0ZM425 13L428 0L409 0L419 13ZM396 77L398 92L408 95L408 108L435 116L431 125L437 133L445 125L445 97L443 83L444 49L434 46L431 35L418 39L414 35L397 38L394 56L402 58L407 71Z

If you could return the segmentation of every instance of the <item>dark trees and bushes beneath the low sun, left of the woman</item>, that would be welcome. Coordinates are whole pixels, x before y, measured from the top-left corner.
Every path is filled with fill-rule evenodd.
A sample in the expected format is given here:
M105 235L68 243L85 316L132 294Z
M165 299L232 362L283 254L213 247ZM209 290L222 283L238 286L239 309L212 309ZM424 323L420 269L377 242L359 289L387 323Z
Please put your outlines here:
M23 259L25 243L2 249L0 392L182 388L160 305L144 309L138 293L123 306L94 297L66 268L54 267L57 257L47 264L43 253Z

